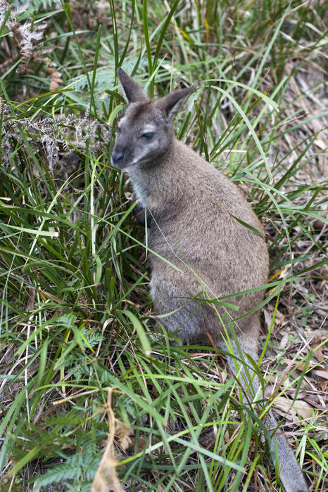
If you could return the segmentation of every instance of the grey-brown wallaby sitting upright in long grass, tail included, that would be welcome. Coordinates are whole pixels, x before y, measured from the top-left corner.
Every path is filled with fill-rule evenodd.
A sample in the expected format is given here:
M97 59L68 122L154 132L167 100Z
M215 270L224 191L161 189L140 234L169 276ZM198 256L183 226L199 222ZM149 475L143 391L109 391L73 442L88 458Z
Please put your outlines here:
M137 218L146 221L155 312L168 313L160 323L182 344L210 343L227 350L222 323L229 328L227 316L236 311L213 299L267 282L263 227L239 188L175 138L173 116L194 87L153 100L121 68L118 78L128 104L118 123L111 164L129 174L134 198L139 199ZM264 291L256 290L226 300L239 307L240 316L263 297ZM234 330L242 351L257 360L260 311L234 322ZM240 358L234 342L232 347ZM228 357L230 370L241 372L241 384L248 391L252 384L255 394L257 378L252 374L253 382L245 382L245 371L236 369L236 358ZM275 433L277 422L271 413L265 425L273 433L273 456L277 446L284 489L308 491L289 444L279 431Z

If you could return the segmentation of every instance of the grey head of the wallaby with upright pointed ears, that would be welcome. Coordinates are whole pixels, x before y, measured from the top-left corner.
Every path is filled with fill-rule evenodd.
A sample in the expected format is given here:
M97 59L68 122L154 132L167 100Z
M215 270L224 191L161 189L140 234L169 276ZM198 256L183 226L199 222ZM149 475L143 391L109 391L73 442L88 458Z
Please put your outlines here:
M160 99L148 98L141 86L118 69L127 109L120 119L111 164L127 169L141 162L156 162L172 145L172 119L195 86L179 89Z

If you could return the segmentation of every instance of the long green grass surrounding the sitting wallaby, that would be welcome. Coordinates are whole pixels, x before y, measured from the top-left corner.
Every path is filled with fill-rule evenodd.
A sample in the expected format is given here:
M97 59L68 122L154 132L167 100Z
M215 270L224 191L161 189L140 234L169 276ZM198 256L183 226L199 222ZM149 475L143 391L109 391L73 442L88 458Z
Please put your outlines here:
M18 4L0 4L1 490L91 490L111 410L130 491L279 490L259 417L295 395L311 415L284 428L311 490L324 490L324 368L313 369L327 339L324 3ZM170 347L164 334L149 351L144 231L110 166L121 65L151 95L200 84L177 135L244 188L266 226L264 410L248 408L213 347Z

